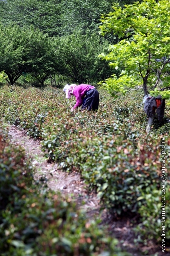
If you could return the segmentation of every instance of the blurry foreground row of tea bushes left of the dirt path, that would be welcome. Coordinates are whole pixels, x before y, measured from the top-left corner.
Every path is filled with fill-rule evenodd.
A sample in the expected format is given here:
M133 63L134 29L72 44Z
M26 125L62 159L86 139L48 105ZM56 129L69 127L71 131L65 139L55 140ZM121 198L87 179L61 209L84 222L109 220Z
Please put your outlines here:
M129 255L116 248L116 239L99 228L99 221L90 222L77 210L71 198L61 198L34 180L23 149L9 143L4 128L0 155L1 256Z

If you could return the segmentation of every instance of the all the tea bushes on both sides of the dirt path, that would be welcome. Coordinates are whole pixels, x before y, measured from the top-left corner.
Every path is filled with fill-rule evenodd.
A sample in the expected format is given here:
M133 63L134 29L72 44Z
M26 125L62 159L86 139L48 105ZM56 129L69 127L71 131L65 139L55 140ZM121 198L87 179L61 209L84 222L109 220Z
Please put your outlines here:
M168 242L170 107L166 107L163 121L155 118L152 131L146 134L142 92L130 91L114 99L104 89L98 89L97 113L71 113L74 99L65 99L62 89L4 86L0 88L0 118L40 140L45 156L57 162L60 169L80 172L89 191L94 189L98 194L102 208L120 218L138 216L136 232L144 243L151 239L161 243L160 142L164 137ZM42 195L21 149L17 151L8 144L4 131L1 134L2 256L9 251L14 256L54 256L56 250L61 252L57 256L127 255L116 251L115 241L105 239L94 223L87 228L85 217L72 202L61 201L53 192ZM103 251L110 254L100 254Z

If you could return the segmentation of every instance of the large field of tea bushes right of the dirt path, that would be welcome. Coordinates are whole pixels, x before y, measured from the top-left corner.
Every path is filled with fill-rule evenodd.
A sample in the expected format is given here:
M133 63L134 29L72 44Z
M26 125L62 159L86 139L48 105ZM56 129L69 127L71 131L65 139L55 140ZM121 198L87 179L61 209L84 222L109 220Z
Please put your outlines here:
M70 113L70 103L61 90L48 87L23 91L15 87L10 92L4 88L0 112L6 121L20 125L29 135L40 139L46 156L57 161L60 168L81 172L89 188L96 189L103 207L118 215L140 213L145 218L149 204L147 195L160 189L160 140L163 136L160 133L164 132L168 144L170 138L166 132L170 123L146 136L146 117L140 97L140 92L132 92L115 101L100 90L98 113ZM164 122L166 114L168 112ZM167 152L166 176L169 176L168 145ZM149 223L150 218L145 223ZM158 239L158 230L150 230L150 236Z

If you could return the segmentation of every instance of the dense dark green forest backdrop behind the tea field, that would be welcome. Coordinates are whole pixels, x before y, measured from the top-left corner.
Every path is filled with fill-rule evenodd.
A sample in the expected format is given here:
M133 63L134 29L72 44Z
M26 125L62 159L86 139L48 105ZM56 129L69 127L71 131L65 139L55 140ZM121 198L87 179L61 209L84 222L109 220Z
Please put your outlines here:
M21 76L33 84L98 82L119 73L98 58L118 38L99 35L101 14L112 0L0 1L0 71L8 82ZM133 1L120 1L125 3Z

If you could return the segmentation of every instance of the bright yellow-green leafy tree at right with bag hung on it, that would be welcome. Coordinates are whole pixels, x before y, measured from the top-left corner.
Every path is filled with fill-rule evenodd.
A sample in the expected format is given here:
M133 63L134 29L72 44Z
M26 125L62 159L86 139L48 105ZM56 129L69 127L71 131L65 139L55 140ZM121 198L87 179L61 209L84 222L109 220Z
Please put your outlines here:
M158 87L159 94L170 97L169 14L168 0L144 0L124 9L115 3L113 12L102 16L102 35L113 32L120 39L126 38L111 45L107 55L100 55L121 70L119 77L113 75L104 83L113 95L142 86L144 95Z

